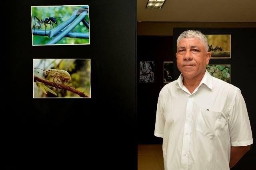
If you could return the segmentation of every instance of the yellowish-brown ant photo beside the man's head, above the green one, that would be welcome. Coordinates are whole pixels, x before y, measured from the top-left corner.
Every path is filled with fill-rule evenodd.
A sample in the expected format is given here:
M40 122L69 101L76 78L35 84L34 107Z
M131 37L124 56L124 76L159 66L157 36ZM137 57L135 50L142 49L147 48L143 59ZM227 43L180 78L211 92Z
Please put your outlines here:
M231 35L205 35L208 39L208 51L212 53L211 59L231 58Z

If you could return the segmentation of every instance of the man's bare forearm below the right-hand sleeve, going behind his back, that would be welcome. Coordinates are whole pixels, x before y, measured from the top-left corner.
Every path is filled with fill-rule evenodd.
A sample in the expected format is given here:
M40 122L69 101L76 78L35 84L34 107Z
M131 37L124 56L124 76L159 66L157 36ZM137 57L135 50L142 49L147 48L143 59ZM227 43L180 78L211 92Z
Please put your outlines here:
M244 156L244 154L250 150L251 145L242 146L242 147L232 147L230 150L230 161L229 161L229 168L232 168L238 160Z

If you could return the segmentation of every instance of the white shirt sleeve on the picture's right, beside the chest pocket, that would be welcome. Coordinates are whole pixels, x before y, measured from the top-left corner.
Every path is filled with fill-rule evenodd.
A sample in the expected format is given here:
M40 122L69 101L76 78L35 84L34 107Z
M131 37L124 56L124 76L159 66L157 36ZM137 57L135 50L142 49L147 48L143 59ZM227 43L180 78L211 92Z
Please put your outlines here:
M240 89L236 90L229 114L231 146L247 146L253 143L250 120Z

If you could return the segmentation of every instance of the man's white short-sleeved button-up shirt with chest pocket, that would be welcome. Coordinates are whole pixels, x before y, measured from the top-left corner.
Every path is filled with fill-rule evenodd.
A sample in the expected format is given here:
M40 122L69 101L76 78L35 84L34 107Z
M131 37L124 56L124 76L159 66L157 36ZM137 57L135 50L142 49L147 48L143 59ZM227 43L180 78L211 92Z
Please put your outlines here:
M182 80L158 97L154 135L163 138L165 170L229 170L230 146L253 143L240 89L208 71L192 94Z

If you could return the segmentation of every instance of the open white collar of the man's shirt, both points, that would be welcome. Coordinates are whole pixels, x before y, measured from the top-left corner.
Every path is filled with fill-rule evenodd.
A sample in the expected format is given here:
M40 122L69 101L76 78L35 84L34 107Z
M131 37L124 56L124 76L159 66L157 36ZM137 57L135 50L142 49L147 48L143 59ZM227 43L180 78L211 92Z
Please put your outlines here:
M183 88L183 75L180 74L179 78L176 81L176 87L179 89ZM205 74L204 77L202 78L199 86L201 86L202 84L205 84L208 88L210 88L212 90L212 76L209 74L209 72L205 69Z

